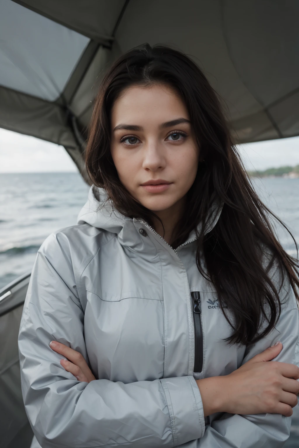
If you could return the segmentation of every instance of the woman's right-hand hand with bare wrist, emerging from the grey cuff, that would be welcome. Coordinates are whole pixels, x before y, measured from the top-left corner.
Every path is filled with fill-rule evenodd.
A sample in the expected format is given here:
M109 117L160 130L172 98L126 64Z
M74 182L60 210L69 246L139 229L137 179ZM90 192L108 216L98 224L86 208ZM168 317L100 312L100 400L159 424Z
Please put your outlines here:
M298 403L299 367L275 362L282 343L256 355L230 375L197 380L204 415L282 414L290 417Z

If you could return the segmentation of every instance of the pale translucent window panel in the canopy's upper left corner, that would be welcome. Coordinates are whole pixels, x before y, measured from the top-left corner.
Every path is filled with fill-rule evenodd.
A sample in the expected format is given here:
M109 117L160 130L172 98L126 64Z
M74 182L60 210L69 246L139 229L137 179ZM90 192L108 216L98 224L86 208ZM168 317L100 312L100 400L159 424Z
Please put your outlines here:
M54 101L89 41L6 0L0 14L1 85Z

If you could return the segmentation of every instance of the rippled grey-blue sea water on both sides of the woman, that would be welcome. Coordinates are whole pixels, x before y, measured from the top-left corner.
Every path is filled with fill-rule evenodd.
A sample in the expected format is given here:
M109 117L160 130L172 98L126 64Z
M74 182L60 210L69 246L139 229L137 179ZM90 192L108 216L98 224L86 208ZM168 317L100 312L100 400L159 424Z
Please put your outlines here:
M255 178L252 182L299 242L299 179ZM50 233L76 224L88 189L78 173L0 174L0 289L30 272L39 246ZM276 232L282 246L296 256L290 235L281 226ZM299 446L297 408L287 448Z

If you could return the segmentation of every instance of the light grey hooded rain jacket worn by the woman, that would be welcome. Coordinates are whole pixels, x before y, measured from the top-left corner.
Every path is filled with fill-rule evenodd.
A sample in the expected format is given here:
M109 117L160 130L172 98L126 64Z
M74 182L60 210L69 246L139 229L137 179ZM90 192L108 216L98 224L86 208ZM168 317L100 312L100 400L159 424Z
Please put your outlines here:
M209 229L218 216L215 210ZM230 327L199 274L195 246L191 234L173 250L147 223L99 210L92 191L78 225L44 241L19 334L24 403L43 448L282 447L290 418L205 420L195 379L227 375L277 340L277 360L295 362L295 296L286 284L269 336L250 347L227 345ZM65 371L51 340L81 352L96 380Z

